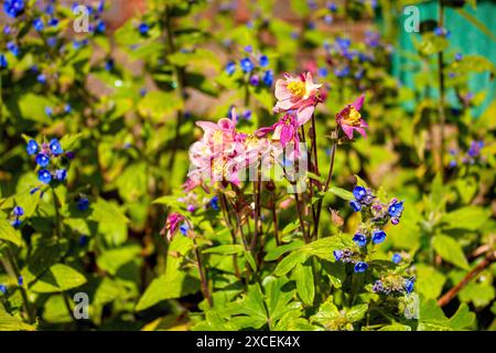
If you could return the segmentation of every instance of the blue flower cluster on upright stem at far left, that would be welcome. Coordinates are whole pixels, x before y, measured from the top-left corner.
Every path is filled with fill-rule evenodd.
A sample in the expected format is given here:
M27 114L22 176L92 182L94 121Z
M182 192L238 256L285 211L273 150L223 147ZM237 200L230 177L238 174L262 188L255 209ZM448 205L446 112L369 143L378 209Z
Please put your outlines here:
M34 160L40 167L37 171L37 180L43 184L50 184L53 180L64 181L67 178L67 170L60 165L72 160L74 153L64 152L58 139L52 139L48 143L41 146L35 140L30 140L26 146L29 156L35 156ZM32 193L36 192L33 189Z

